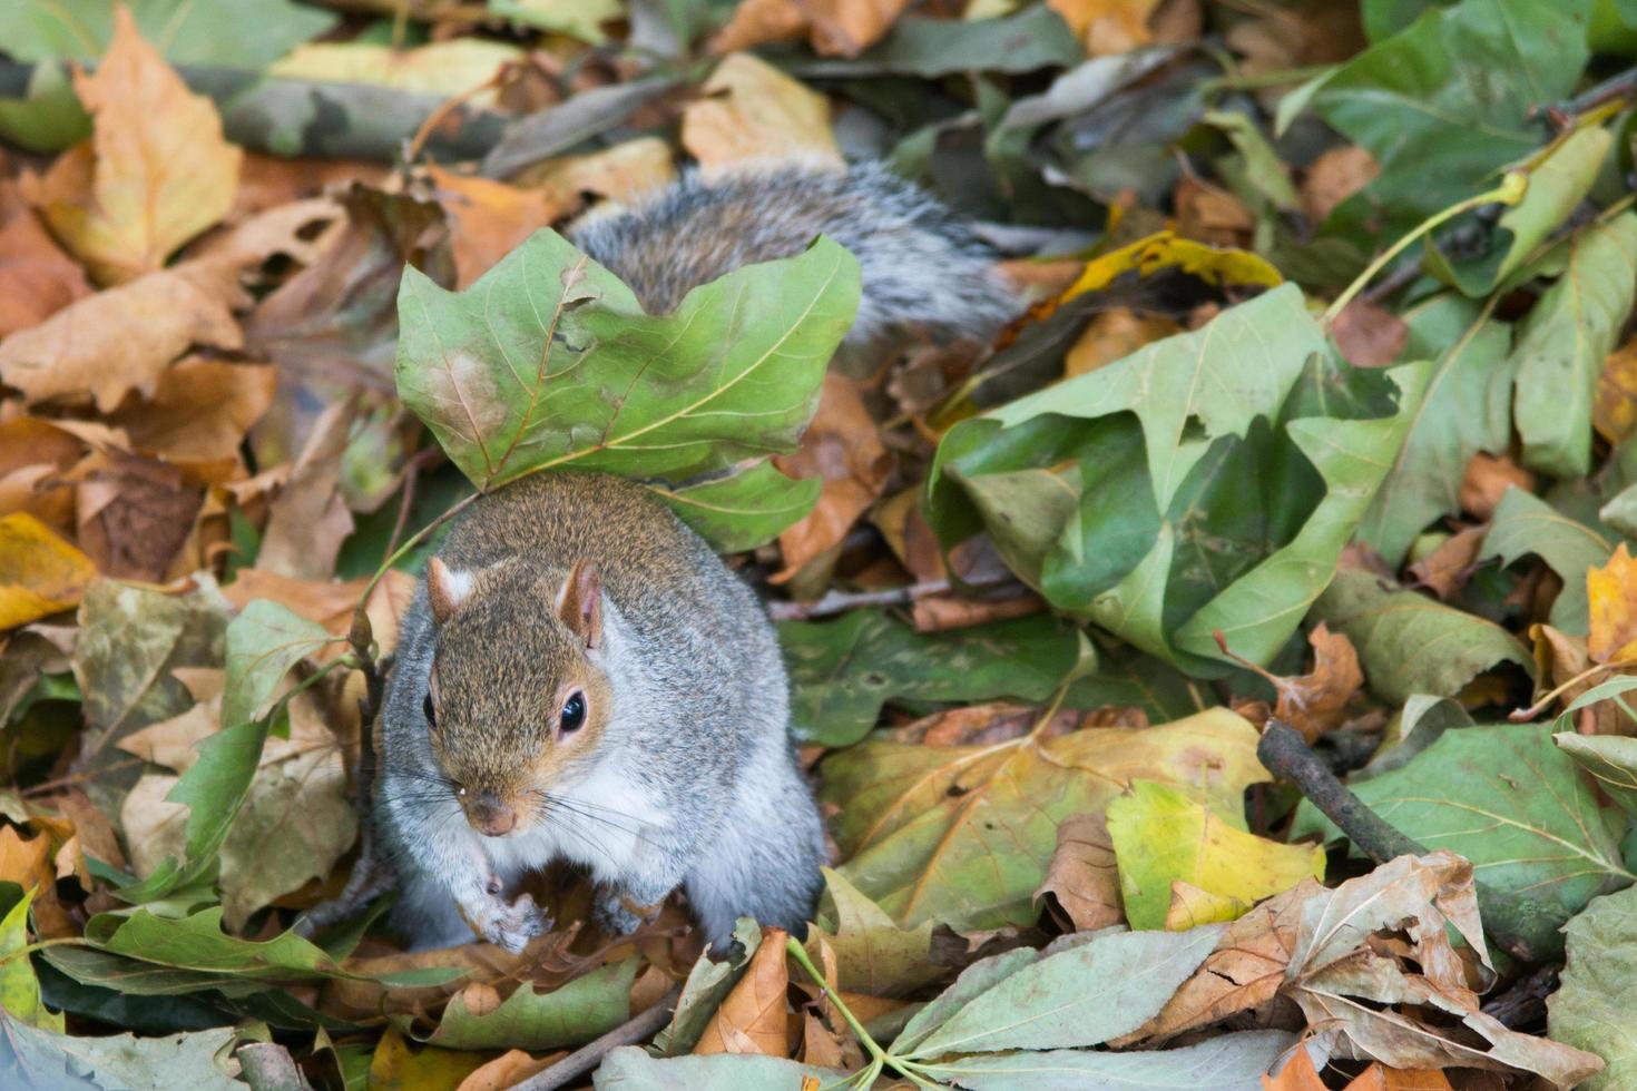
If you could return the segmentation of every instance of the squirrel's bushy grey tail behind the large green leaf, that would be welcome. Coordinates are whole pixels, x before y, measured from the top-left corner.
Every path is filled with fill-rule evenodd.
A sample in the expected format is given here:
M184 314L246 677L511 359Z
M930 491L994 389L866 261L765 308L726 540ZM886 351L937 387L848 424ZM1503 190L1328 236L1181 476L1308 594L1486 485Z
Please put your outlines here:
M665 312L691 288L742 265L794 257L820 234L851 250L863 270L848 345L905 327L987 339L1023 309L989 244L881 164L841 170L771 160L710 177L691 170L627 211L588 216L570 237L648 311Z

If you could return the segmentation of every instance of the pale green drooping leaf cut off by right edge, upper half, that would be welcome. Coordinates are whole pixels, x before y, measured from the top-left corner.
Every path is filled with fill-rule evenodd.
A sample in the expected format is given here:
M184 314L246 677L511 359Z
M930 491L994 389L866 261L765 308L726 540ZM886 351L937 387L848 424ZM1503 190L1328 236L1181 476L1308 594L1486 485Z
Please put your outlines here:
M1513 350L1517 433L1531 469L1585 478L1598 376L1637 291L1637 214L1590 227L1568 247L1568 268L1529 311Z

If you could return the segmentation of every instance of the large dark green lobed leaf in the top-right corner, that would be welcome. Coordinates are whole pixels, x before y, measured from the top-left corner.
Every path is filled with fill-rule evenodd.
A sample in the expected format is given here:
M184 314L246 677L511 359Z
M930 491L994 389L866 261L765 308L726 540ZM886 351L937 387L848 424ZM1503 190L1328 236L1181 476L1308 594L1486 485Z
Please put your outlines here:
M1382 172L1333 222L1396 236L1532 155L1532 108L1567 98L1586 65L1590 7L1463 0L1342 65L1313 93L1313 110Z

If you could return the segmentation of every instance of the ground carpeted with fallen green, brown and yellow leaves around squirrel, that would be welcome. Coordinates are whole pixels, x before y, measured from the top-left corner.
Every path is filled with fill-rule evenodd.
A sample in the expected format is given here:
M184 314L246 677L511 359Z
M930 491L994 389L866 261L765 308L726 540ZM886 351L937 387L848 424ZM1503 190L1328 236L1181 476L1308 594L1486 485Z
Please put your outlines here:
M0 1083L1637 1086L1634 59L1626 0L0 5ZM648 316L542 231L768 155L1031 309L832 361L835 242ZM769 600L815 921L303 937L440 519L576 468Z

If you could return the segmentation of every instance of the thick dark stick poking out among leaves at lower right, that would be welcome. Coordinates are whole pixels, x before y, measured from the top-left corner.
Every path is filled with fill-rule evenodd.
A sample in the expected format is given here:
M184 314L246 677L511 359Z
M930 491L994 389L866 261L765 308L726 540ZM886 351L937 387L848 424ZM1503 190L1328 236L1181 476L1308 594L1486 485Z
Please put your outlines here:
M1323 811L1324 818L1336 823L1347 834L1347 839L1377 864L1400 855L1426 855L1426 847L1390 826L1349 792L1347 785L1337 780L1336 774L1313 752L1301 733L1290 725L1269 720L1256 756L1275 777L1295 783L1301 795ZM1547 906L1534 898L1511 895L1481 882L1473 885L1478 891L1483 929L1498 947L1524 962L1562 959L1563 937L1557 931L1557 918ZM1547 937L1545 944L1537 947L1531 942L1531 936Z

